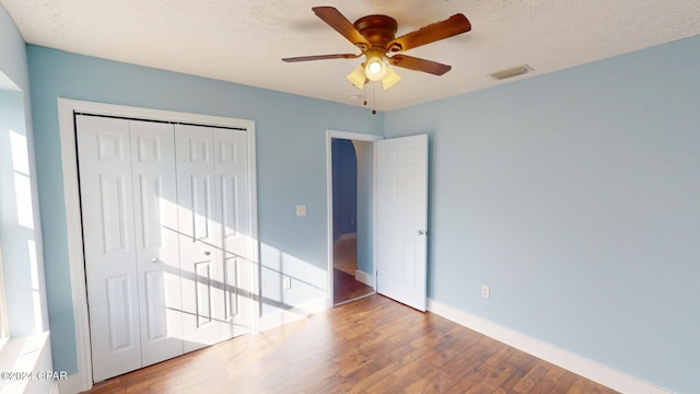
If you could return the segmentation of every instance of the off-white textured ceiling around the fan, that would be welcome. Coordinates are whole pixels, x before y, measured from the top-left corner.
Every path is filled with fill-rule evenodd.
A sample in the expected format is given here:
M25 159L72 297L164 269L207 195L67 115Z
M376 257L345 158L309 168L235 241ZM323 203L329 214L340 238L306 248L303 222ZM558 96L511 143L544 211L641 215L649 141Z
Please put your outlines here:
M72 53L362 105L347 80L360 59L285 63L283 57L354 53L312 12L332 5L351 22L398 21L397 35L464 13L469 33L406 54L452 65L435 77L396 69L377 109L394 109L551 72L700 34L700 0L0 0L24 39ZM527 63L508 81L490 73Z

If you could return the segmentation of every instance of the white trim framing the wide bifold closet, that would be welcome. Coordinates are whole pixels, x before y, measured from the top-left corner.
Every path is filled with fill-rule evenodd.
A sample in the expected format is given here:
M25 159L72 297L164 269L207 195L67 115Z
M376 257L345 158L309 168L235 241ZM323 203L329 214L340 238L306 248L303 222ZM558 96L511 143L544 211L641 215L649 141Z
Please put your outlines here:
M255 158L255 121L221 116L188 114L172 111L140 108L124 105L93 103L58 97L58 126L61 143L61 164L63 173L63 198L66 204L66 232L68 243L68 259L70 265L71 296L73 304L73 324L75 326L75 345L78 354L78 373L69 380L61 381L61 392L85 391L92 387L92 359L90 347L90 327L88 315L88 296L85 289L85 269L83 266L83 236L80 216L80 194L78 181L78 165L75 152L75 125L73 113L89 113L94 115L121 116L149 120L179 121L202 126L238 127L248 132L248 173L250 179L250 223L252 233L258 240L257 227L257 182ZM250 253L257 269L254 269L255 302L259 302L259 242L254 243L255 251ZM259 308L257 309L259 311ZM255 323L259 315L255 316ZM65 389L63 389L65 387Z

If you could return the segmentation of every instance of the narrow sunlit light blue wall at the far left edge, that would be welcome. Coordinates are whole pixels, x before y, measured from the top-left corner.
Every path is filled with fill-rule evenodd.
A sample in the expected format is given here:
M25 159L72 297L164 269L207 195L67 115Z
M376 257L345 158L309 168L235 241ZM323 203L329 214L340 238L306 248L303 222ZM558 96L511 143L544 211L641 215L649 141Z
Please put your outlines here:
M10 333L12 336L24 336L48 329L42 228L37 210L38 198L35 192L32 193L37 186L25 45L14 22L0 5L0 80L8 79L11 91L0 88L0 160L3 165L0 173L0 221ZM20 151L12 152L10 149L10 130L16 132L22 140L16 146ZM15 172L12 158L20 153L26 154L26 160L22 160L21 171ZM28 181L32 196L26 211L32 216L33 222L19 220L15 176ZM30 219L28 216L24 218ZM36 266L38 288L32 283L32 265Z

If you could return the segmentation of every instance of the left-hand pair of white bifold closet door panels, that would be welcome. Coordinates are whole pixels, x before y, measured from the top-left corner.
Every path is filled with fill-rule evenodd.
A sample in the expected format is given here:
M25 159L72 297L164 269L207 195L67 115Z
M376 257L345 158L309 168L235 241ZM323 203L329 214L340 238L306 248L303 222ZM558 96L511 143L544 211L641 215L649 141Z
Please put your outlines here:
M93 379L183 354L173 126L75 119Z

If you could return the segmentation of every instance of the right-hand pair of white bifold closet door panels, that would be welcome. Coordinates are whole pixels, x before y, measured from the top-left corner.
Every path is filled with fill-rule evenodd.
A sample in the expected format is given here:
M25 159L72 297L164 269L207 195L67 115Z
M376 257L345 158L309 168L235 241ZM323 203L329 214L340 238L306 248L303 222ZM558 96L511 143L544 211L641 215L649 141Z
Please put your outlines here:
M185 351L253 325L246 134L177 125Z

